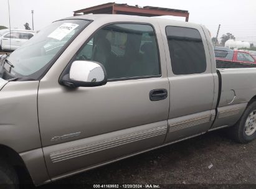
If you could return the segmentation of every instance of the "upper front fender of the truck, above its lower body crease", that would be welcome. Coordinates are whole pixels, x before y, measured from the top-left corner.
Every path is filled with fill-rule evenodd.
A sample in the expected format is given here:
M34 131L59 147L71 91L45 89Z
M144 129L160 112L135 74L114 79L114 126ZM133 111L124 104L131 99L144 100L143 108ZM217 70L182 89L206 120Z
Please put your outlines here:
M37 118L39 81L0 80L0 144L17 153L41 147Z

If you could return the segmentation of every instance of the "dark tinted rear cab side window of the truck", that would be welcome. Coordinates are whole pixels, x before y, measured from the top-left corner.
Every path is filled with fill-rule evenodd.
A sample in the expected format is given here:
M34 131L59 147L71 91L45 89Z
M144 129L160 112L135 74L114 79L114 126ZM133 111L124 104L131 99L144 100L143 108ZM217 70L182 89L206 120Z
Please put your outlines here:
M206 71L206 54L201 34L197 29L167 26L166 37L174 75Z

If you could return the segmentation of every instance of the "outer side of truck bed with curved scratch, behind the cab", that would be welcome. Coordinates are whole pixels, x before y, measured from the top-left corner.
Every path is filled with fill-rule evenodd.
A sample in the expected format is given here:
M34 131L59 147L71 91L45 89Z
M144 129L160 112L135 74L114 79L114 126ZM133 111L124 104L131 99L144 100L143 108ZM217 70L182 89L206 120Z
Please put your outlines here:
M216 121L211 129L234 125L256 94L256 68L217 68L217 73Z

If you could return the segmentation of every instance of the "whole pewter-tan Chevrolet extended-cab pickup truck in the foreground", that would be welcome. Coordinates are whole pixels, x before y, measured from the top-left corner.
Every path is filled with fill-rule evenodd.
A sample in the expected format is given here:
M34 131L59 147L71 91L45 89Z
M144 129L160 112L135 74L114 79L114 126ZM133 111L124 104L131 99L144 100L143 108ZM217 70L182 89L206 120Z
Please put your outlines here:
M22 182L17 170L42 185L224 127L238 142L256 137L256 69L216 69L203 25L69 17L0 66L9 188Z

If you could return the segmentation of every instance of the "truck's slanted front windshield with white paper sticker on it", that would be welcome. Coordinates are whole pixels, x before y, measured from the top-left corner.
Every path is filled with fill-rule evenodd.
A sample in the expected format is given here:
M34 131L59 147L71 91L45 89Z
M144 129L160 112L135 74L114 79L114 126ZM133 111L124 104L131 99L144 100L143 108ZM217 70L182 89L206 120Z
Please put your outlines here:
M37 32L31 40L17 48L7 58L13 65L11 75L27 76L38 80L54 60L55 56L69 44L78 33L89 23L84 20L65 20L53 22ZM4 65L9 70L10 65Z

